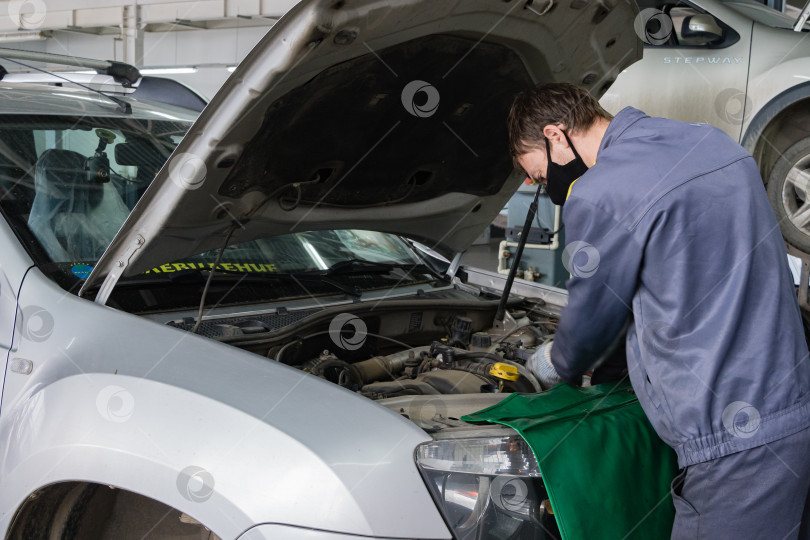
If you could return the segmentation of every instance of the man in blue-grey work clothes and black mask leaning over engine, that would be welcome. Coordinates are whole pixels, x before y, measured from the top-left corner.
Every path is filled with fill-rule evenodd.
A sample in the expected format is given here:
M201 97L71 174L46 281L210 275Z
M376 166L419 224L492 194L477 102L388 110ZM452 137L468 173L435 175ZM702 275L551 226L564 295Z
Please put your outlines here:
M581 383L627 327L627 368L677 453L673 539L810 538L810 361L754 159L705 124L609 115L546 84L509 114L516 167L563 205L572 277L529 361Z

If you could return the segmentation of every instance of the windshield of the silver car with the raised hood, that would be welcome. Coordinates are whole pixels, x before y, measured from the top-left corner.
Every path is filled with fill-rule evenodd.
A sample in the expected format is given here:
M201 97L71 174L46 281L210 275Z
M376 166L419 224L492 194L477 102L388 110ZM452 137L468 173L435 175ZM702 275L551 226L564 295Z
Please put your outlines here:
M190 126L177 120L129 117L1 118L0 207L40 268L73 292L87 279ZM122 280L123 292L117 294L127 296L129 281L145 288L165 287L159 295L163 309L196 305L198 285L218 254L214 250L167 262ZM232 283L223 283L223 290L231 291L228 298L217 294L215 286L211 299L228 304L355 290L347 287L390 288L427 279L394 268L420 262L401 238L373 231L312 231L264 238L223 250L216 271L219 280L227 281L233 273L251 279L245 281L248 287L240 286L241 292L232 291ZM367 263L378 263L378 267ZM390 268L380 268L379 263ZM278 279L306 273L329 277L306 283ZM180 290L184 285L185 292ZM149 307L142 304L142 309Z

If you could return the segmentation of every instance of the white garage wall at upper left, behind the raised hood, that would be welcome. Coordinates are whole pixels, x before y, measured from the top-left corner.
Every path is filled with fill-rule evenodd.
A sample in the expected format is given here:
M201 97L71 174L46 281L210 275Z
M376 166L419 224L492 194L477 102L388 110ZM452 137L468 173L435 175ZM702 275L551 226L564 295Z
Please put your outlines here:
M212 98L297 0L0 1L0 47L128 61L139 68L193 67L161 75ZM28 71L0 60L8 71ZM69 68L48 66L54 71Z

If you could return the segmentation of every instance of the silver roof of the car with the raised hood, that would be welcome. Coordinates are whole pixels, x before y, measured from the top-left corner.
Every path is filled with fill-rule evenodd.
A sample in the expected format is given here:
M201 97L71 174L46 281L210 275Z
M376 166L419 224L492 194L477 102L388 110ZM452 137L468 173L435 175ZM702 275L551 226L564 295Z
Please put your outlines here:
M124 114L113 100L102 94L83 88L71 88L68 82L65 85L60 87L0 81L0 114L159 117L183 122L193 122L197 118L197 113L189 109L119 94L115 99L126 101L132 106L132 114Z

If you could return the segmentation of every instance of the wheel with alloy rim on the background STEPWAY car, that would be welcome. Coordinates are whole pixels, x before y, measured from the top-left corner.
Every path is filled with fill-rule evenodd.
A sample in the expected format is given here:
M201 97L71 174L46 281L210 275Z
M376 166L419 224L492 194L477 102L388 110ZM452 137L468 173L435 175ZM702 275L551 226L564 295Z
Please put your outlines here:
M785 240L810 253L810 137L777 160L768 177L768 199Z

